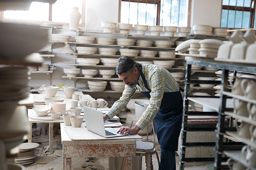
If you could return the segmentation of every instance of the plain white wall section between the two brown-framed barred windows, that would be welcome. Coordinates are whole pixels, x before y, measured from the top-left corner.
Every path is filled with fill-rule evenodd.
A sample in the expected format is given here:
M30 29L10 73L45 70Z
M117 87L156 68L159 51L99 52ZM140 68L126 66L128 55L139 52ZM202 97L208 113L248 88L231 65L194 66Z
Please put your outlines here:
M220 27L222 0L192 0L191 27L208 25Z

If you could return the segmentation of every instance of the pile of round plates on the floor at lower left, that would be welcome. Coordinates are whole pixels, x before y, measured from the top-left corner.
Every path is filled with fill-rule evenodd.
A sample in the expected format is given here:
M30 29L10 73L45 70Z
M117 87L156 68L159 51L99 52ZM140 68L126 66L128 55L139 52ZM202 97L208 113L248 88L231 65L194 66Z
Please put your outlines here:
M33 163L36 157L34 148L38 146L38 143L32 142L19 144L19 153L17 154L18 157L15 158L15 163L22 165Z

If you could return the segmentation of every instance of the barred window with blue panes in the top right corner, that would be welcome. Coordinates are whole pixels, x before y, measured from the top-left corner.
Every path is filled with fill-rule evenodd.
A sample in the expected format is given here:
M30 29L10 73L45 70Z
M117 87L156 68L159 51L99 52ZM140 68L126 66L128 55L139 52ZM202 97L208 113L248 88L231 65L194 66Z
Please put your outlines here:
M223 0L221 27L255 28L255 0Z

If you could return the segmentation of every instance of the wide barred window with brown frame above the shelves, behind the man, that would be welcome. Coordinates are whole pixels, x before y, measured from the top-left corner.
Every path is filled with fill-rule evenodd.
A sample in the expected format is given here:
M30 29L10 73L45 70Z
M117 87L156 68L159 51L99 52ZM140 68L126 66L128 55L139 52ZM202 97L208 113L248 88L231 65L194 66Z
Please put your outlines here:
M121 0L119 21L147 26L187 27L189 0Z

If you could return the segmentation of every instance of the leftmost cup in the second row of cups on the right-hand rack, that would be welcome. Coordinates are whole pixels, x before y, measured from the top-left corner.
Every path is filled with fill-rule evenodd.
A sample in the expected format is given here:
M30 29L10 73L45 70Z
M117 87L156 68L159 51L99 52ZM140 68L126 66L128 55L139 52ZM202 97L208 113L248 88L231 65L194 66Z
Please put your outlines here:
M240 116L249 116L248 110L247 110L247 102L238 100L238 99L234 99L233 100L233 106L234 106L234 110L233 113L240 115Z

